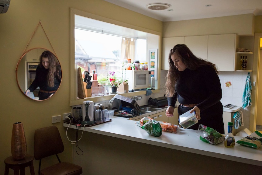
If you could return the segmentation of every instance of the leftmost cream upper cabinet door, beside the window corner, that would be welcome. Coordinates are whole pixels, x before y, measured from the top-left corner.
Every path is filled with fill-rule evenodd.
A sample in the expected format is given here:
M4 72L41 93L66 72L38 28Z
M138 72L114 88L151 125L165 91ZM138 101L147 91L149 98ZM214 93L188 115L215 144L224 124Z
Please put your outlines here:
M168 55L170 50L176 44L184 44L184 37L170 37L170 38L163 38L163 45L162 45L162 70L169 69L169 60Z

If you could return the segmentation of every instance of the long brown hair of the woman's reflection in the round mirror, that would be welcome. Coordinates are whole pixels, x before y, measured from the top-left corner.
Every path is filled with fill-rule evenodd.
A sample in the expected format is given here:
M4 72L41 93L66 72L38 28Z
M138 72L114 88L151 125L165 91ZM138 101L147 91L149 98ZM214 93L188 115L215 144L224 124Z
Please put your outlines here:
M42 58L48 58L50 65L49 65L49 68L48 68L49 71L48 71L48 74L47 74L47 82L48 82L48 86L54 87L55 77L58 77L59 79L61 79L61 75L59 75L60 65L57 62L56 56L50 51L43 51L43 53L41 54L41 56L40 56L40 67L43 67Z

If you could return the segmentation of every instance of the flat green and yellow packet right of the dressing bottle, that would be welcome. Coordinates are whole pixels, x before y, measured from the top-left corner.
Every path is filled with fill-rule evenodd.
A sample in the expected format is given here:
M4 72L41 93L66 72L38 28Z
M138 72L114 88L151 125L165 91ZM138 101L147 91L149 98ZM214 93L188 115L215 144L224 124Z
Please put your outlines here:
M241 138L236 143L250 148L258 149L262 145L262 133L255 131L249 136Z

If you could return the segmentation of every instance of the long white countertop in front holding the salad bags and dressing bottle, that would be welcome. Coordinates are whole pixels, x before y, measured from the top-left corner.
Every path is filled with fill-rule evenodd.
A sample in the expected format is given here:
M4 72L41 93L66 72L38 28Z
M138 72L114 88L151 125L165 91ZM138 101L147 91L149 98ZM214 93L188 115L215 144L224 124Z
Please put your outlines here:
M253 149L236 143L234 148L225 148L223 142L218 145L212 145L201 141L196 135L196 130L183 128L179 128L176 134L163 131L160 137L154 137L147 134L145 130L141 129L135 123L136 121L128 120L124 117L112 117L112 121L85 127L84 131L262 166L262 147ZM67 123L63 125L64 127L69 126ZM76 126L71 124L69 128L76 129ZM79 129L83 130L83 127ZM236 141L242 138L238 136L234 137Z

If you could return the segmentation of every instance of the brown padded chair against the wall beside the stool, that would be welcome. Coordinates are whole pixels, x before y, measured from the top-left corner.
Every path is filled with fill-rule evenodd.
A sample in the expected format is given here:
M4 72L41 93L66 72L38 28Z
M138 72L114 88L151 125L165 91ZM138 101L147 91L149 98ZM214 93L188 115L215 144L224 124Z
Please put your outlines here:
M56 126L37 129L34 138L34 156L39 161L39 175L79 175L82 167L73 163L61 162L58 153L64 151L60 133ZM56 155L59 163L41 170L41 160L48 156Z

